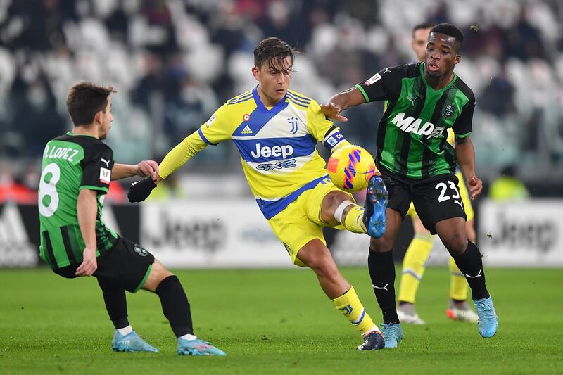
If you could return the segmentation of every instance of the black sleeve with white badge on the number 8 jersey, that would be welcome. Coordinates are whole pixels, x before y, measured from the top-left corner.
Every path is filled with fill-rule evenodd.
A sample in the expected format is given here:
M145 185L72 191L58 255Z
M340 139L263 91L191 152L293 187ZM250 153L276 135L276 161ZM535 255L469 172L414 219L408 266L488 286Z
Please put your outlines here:
M85 150L86 151L86 150ZM105 144L96 144L85 152L82 160L80 190L89 189L107 193L113 168L113 151Z

